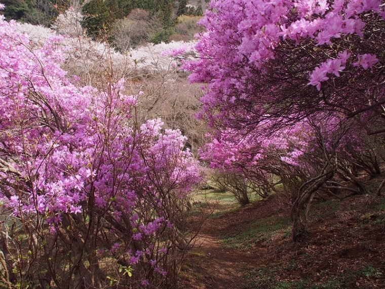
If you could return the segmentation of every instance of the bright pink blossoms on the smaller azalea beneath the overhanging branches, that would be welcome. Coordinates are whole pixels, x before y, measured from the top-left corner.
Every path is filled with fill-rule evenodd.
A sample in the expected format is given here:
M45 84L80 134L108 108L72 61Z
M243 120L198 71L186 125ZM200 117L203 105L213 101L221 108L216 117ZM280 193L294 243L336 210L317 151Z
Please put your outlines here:
M291 173L291 170L304 166L302 156L307 142L302 138L303 131L304 123L269 137L254 133L240 134L230 129L218 131L215 135L209 135L211 141L200 150L201 159L217 171L236 171L255 183L258 180L264 182L273 171L275 174L277 171Z

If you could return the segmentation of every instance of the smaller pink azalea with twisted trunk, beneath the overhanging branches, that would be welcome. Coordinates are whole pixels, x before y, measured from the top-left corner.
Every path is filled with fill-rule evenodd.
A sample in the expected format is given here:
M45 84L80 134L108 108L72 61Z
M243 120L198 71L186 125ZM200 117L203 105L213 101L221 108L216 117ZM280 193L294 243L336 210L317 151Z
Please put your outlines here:
M352 120L324 115L267 135L262 132L272 128L264 126L248 133L218 131L201 149L201 159L236 198L239 178L262 198L277 193L279 206L291 207L294 239L306 225L305 207L315 194L343 199L368 193L358 172L380 174L381 143Z

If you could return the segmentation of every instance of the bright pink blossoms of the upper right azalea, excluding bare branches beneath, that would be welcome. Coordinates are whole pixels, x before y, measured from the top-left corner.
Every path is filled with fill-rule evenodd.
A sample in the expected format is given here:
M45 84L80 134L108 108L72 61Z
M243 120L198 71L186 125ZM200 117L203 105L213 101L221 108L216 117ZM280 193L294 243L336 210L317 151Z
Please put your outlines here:
M307 51L313 65L298 59L298 71L306 69L307 85L318 90L348 66L357 67L357 72L349 68L349 74L374 67L380 60L372 47L353 43L378 31L384 17L380 0L212 1L200 22L206 32L195 45L201 58L183 66L191 72L191 82L207 84L200 117L233 122L229 112L247 114L243 103L254 101L253 76L268 77L267 69L274 67L280 72L277 51ZM324 49L333 53L323 54ZM267 99L267 89L265 94Z

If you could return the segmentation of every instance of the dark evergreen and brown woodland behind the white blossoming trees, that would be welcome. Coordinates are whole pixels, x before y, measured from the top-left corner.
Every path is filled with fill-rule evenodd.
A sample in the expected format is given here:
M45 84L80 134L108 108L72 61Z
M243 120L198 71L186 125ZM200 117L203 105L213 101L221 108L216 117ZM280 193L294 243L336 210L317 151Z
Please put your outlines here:
M121 51L147 42L158 44L193 39L199 30L196 23L207 5L204 0L198 1L196 6L189 5L187 0L92 0L73 3L10 0L3 1L3 4L6 19L45 27L51 27L56 17L70 6L81 5L84 15L82 25L87 35L96 40L107 37ZM130 44L123 46L122 38L126 41L129 38Z

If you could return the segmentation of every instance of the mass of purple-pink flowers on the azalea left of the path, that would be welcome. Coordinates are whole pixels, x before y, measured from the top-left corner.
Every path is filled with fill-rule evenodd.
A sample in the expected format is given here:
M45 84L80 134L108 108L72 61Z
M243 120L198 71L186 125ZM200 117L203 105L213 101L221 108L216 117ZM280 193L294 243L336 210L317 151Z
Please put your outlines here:
M124 94L124 80L106 80L103 89L73 84L60 66L61 39L39 47L16 25L0 16L0 207L20 220L44 220L60 236L73 236L80 220L100 236L104 220L120 239L99 243L89 256L154 259L153 269L166 275L158 258L167 249L152 243L172 228L164 202L185 197L201 180L198 163L183 151L185 136L162 131L159 119L138 125L138 96ZM141 248L127 246L133 242Z

